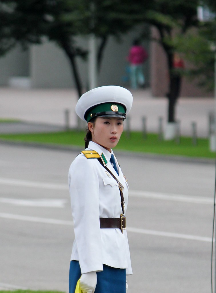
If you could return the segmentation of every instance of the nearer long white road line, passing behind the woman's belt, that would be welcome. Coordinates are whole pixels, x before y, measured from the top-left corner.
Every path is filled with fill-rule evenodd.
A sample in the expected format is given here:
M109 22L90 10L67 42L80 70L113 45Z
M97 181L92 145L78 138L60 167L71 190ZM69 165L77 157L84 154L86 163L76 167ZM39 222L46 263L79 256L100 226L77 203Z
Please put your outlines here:
M7 214L7 213L0 213L0 217L5 218L5 219L13 219L13 220L45 223L45 224L59 224L59 225L73 226L72 221L66 221L66 220L30 217L30 216ZM138 233L138 234L148 234L148 235L154 235L154 236L163 236L163 237L180 238L180 239L186 239L186 240L212 242L212 238L210 238L210 237L202 237L202 236L171 233L171 232L164 232L164 231L139 229L139 228L134 228L134 227L127 227L127 231L132 232L132 233Z

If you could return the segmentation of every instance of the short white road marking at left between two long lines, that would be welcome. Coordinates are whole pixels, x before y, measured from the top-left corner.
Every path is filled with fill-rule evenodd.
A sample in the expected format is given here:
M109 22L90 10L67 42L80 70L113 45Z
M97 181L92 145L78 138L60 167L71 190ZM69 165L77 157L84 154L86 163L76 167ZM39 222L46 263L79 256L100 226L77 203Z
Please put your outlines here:
M60 207L64 208L66 200L64 199L15 199L0 197L0 202L10 205L20 205L25 207Z

